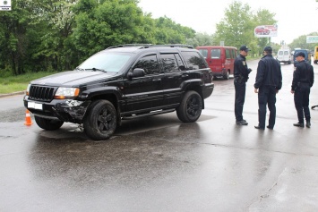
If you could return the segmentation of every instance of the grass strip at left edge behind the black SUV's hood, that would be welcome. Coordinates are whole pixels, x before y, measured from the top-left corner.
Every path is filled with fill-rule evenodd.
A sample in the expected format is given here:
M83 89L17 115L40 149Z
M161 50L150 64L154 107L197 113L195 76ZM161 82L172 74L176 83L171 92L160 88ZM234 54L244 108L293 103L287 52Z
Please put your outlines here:
M18 76L0 78L0 94L8 94L26 90L30 81L45 77L56 72L31 72Z

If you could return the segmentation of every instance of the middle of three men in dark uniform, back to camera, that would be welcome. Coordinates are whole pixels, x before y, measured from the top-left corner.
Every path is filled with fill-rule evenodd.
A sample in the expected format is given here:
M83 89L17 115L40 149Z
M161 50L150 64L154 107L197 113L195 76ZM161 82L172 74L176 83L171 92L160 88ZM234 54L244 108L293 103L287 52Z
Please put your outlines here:
M254 92L258 93L258 125L256 129L265 129L266 105L270 110L269 125L267 128L273 129L276 119L276 94L281 89L281 69L279 62L273 58L272 48L265 47L263 57L257 66Z

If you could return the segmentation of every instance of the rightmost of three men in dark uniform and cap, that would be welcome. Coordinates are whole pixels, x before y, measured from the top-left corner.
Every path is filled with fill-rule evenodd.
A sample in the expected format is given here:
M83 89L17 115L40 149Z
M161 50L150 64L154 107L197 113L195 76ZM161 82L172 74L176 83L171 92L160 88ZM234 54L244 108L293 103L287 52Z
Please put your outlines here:
M310 111L309 111L309 94L310 88L314 84L314 68L313 65L305 62L305 54L298 52L296 55L297 65L291 84L291 93L294 94L294 102L297 110L298 123L294 126L310 128Z

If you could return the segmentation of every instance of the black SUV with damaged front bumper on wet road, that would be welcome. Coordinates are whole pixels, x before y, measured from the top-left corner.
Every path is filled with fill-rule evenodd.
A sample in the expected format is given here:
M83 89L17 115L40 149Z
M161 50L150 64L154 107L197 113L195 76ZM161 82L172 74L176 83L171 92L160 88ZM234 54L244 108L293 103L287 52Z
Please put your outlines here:
M211 69L193 47L121 45L31 81L24 106L42 129L79 123L91 139L107 140L125 119L176 111L193 123L213 89Z

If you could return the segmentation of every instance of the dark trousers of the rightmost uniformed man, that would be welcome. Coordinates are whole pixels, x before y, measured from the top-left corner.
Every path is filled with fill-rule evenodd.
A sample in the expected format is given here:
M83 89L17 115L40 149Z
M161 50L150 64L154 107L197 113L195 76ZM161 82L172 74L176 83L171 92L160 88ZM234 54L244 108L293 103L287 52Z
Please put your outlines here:
M309 94L309 84L302 84L295 90L294 102L299 123L304 123L304 114L306 122L310 122Z

